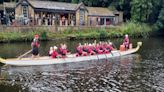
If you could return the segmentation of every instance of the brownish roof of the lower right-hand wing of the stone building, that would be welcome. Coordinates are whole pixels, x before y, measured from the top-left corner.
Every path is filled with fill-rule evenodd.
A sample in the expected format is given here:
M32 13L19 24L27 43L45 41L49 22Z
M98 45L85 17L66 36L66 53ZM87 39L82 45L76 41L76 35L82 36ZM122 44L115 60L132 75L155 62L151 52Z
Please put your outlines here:
M102 7L87 7L89 16L115 16L113 11Z

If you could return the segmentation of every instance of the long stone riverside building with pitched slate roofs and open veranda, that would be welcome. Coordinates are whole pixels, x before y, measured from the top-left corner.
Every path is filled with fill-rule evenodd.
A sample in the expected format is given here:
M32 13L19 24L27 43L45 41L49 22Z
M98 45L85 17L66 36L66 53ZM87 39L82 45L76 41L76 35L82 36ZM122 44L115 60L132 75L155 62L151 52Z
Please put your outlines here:
M4 10L15 15L14 25L109 26L123 22L121 12L87 7L83 3L20 0L15 4L5 3Z

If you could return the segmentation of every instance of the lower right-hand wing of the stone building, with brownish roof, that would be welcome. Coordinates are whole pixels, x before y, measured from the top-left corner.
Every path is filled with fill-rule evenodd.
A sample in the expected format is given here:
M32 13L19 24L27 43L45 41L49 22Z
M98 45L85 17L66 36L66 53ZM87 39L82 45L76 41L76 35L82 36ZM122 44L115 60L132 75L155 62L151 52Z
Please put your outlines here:
M123 21L122 12L110 11L108 8L87 7L88 25L90 26L109 26L119 24Z

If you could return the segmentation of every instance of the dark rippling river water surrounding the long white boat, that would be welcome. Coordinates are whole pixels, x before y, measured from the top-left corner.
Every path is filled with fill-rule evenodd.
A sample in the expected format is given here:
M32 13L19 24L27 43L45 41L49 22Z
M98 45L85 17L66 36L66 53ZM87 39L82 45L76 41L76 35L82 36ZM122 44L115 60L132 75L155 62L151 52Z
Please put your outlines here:
M107 41L107 40L105 40ZM122 39L113 39L116 47ZM131 55L112 59L83 61L49 66L0 66L0 92L163 92L164 38L132 39L141 49ZM67 43L74 52L79 42ZM61 41L41 42L40 55ZM0 45L0 57L18 57L30 49L30 43Z

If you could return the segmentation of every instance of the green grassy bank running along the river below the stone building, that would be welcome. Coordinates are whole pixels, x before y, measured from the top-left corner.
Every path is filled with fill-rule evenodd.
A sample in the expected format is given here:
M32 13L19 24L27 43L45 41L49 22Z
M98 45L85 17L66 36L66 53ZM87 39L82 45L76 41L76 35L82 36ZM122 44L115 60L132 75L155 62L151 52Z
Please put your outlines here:
M3 31L0 32L0 42L31 41L35 34L40 35L41 40L52 39L98 39L98 38L118 38L129 34L130 37L149 37L152 28L146 24L127 22L119 27L110 28L79 28L73 30L68 27L65 31L50 32L46 29L35 29L31 31Z

